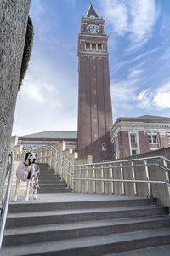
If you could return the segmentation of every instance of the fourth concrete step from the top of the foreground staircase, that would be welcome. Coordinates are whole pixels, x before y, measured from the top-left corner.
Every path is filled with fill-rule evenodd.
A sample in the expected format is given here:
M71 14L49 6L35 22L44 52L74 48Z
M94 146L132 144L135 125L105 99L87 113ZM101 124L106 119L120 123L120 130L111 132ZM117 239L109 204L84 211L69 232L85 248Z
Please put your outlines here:
M169 244L170 229L142 230L111 234L106 236L81 237L61 241L32 243L24 246L8 247L1 252L5 255L105 255L120 253L130 249L154 247Z

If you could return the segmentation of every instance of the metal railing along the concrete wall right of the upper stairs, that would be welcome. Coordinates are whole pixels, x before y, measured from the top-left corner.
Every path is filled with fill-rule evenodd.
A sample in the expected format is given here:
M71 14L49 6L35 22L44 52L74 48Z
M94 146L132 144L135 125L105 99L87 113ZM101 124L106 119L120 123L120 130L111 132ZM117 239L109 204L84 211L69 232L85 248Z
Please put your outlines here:
M170 160L163 156L77 165L53 146L35 150L78 193L154 196L170 207ZM24 155L23 155L24 158Z

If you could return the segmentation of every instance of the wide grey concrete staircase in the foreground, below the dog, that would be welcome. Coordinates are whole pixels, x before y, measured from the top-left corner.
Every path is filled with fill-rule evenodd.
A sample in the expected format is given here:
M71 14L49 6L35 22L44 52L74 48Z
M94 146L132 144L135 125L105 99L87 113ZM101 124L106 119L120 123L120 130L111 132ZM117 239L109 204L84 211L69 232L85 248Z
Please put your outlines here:
M39 194L10 203L1 255L169 255L167 213L156 199Z

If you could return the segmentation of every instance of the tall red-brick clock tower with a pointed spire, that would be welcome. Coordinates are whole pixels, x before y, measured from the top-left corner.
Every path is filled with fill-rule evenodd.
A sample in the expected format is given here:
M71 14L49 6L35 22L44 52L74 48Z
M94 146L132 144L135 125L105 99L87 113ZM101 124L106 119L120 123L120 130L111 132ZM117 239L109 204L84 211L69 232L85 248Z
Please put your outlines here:
M90 2L78 38L78 153L111 159L111 86L105 20Z

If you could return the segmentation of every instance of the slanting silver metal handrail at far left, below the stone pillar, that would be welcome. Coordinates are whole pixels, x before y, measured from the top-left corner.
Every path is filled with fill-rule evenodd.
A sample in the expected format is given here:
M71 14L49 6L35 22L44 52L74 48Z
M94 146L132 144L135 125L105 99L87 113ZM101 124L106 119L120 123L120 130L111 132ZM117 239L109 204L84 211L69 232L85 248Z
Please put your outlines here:
M10 168L9 177L8 177L8 188L6 191L5 200L3 204L3 215L1 218L1 225L0 225L0 249L3 243L3 234L5 230L5 224L6 224L7 213L8 213L8 202L10 198L10 190L11 190L11 185L13 180L13 172L14 172L14 152L13 151L11 152L10 156L11 156L11 168Z

